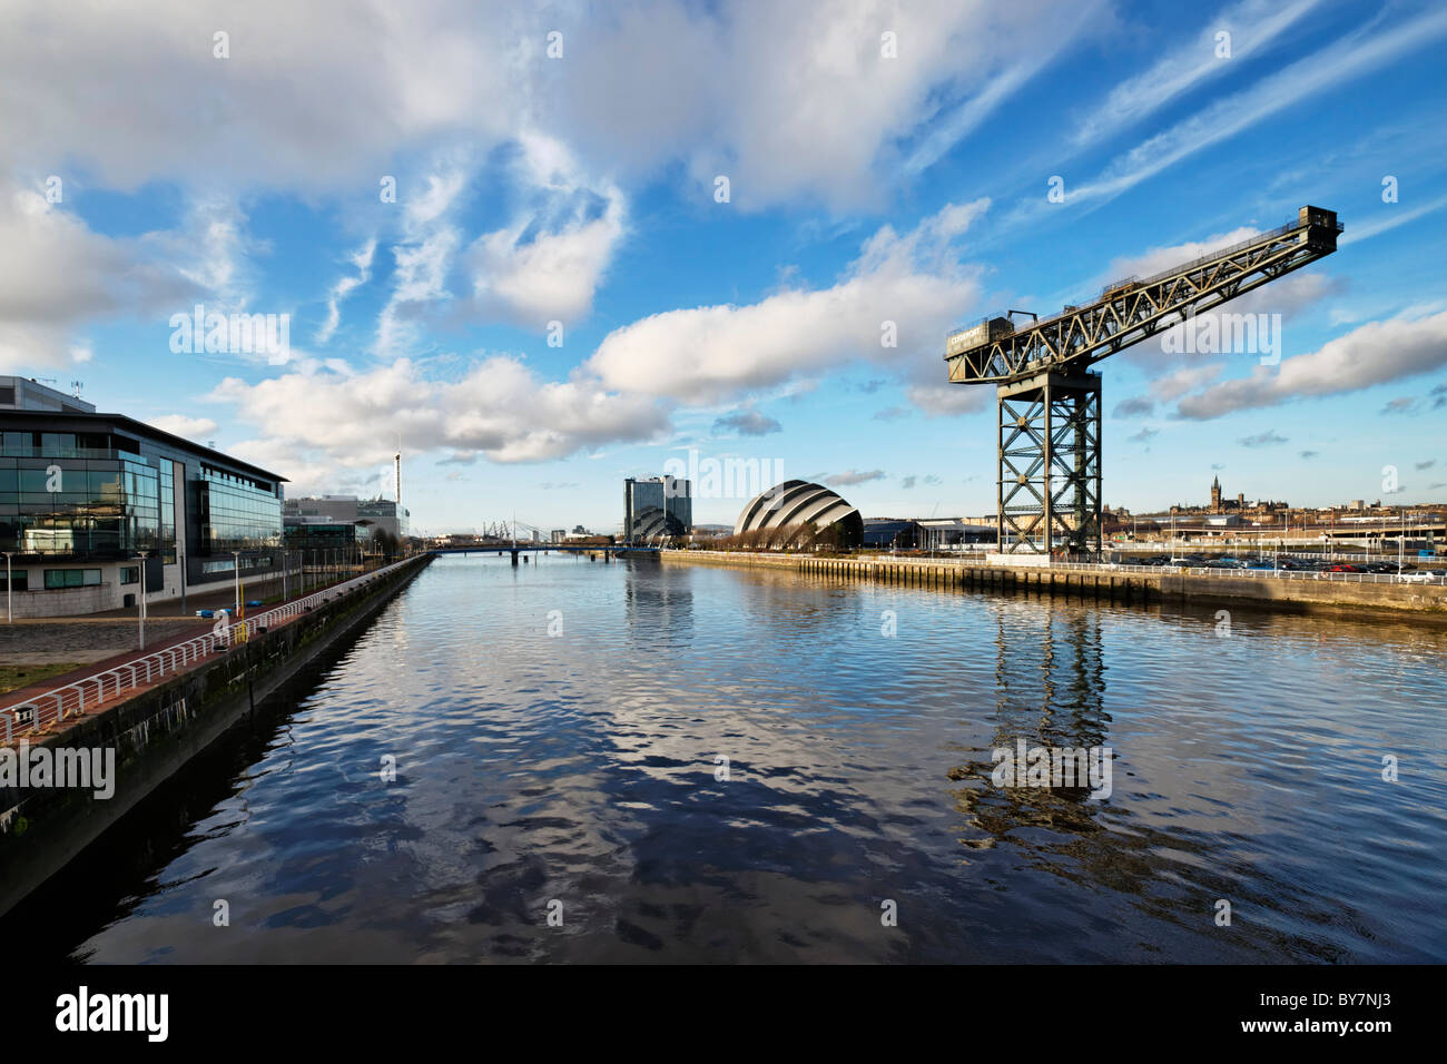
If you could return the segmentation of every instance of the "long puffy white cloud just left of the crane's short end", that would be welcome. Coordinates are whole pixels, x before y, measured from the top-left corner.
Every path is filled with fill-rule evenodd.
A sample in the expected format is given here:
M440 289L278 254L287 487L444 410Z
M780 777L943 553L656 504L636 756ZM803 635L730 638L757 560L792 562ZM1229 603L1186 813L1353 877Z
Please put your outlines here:
M884 226L831 288L634 321L603 337L585 366L609 388L713 404L852 360L942 359L948 327L978 298L975 271L951 242L987 207L949 204L903 236ZM896 347L881 345L886 321L899 329ZM938 369L943 376L943 362Z

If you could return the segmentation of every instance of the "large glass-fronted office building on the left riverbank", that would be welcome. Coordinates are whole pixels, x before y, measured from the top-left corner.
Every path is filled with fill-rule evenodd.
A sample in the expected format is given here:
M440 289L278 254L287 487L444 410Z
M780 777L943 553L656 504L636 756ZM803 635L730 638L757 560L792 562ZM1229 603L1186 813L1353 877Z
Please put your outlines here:
M133 605L142 582L156 599L227 586L233 552L243 572L278 569L282 482L119 414L0 408L9 608L97 612Z

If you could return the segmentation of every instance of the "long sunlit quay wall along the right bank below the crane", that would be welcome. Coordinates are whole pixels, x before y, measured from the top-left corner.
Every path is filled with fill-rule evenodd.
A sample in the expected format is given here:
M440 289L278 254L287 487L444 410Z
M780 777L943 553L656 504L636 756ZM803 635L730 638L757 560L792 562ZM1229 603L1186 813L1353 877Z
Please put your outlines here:
M1129 605L1200 602L1294 612L1393 615L1447 624L1447 586L1441 585L710 550L666 550L660 557L667 563L784 569L810 576L877 580L915 588L998 594L1027 592Z

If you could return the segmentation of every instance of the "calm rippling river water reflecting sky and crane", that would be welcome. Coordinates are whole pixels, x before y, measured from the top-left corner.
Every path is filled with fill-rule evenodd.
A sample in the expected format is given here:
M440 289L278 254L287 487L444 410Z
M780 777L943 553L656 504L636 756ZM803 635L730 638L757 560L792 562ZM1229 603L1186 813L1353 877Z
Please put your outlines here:
M100 963L1447 960L1447 633L1217 628L443 557L0 931ZM1108 796L997 786L1017 738L1110 747Z

